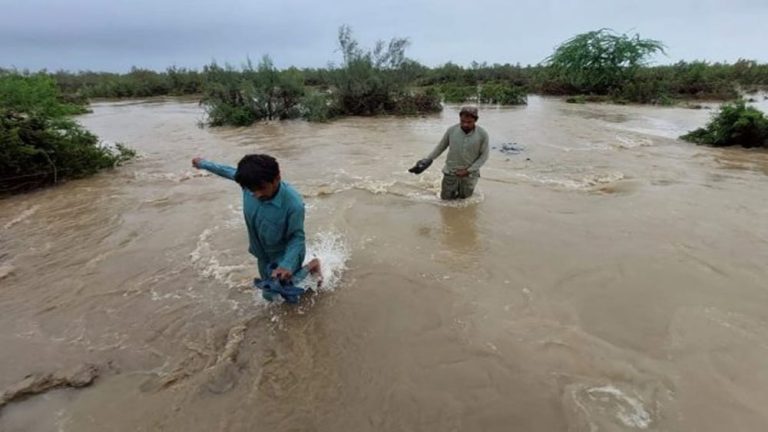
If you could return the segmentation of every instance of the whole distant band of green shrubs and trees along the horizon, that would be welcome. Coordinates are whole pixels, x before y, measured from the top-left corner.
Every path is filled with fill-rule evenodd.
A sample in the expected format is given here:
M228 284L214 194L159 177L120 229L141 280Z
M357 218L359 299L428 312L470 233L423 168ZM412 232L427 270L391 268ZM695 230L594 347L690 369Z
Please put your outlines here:
M472 62L427 67L406 56L407 39L362 48L347 26L337 40L341 63L326 68L277 69L265 57L254 66L211 63L202 71L134 68L126 74L50 74L73 102L89 98L195 95L210 125L247 125L261 119L325 121L345 115L419 114L440 102L520 105L530 93L569 101L673 105L691 100L733 100L768 88L768 64L702 61L650 66L665 46L637 34L608 29L574 36L541 64Z

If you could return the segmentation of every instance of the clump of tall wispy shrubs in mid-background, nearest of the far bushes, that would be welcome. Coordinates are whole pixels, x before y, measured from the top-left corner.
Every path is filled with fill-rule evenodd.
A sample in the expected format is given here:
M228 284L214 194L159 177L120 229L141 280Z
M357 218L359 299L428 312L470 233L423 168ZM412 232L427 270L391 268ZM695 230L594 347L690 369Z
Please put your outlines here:
M436 91L411 86L406 39L379 41L364 50L344 26L338 42L343 63L327 75L317 74L314 87L306 85L300 70L277 70L269 57L256 68L250 62L239 70L206 66L201 103L207 123L245 126L258 120L326 121L344 115L409 115L442 109Z

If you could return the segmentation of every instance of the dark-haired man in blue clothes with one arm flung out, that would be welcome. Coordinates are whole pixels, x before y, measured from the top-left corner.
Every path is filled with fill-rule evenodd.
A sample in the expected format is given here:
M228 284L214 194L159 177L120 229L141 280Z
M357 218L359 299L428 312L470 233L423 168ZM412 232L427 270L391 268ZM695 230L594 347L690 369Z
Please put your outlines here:
M302 267L306 253L304 201L296 189L281 180L275 158L246 155L235 169L198 157L192 159L192 166L234 180L242 188L248 252L258 260L262 279L298 282L307 271L319 276L317 258Z

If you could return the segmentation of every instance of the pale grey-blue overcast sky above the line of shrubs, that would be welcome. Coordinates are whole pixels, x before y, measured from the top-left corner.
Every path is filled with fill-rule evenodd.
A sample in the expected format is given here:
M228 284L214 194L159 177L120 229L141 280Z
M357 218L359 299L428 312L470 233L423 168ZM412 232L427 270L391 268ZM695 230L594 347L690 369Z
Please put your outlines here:
M602 27L658 39L657 63L768 62L768 0L0 0L0 67L123 72L269 54L279 67L338 63L340 25L370 46L407 37L429 66L535 64Z

